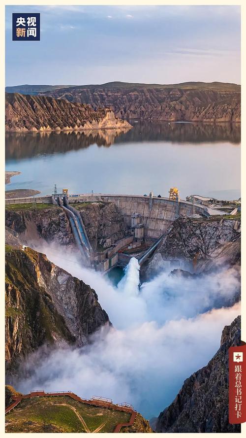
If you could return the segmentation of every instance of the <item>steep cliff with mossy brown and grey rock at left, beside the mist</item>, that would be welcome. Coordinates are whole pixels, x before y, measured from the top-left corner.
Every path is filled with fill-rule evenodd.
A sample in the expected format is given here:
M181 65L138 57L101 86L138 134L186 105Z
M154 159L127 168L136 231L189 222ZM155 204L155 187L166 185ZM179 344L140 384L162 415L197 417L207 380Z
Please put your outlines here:
M83 345L107 313L90 286L30 248L6 246L5 356L7 372L44 344Z

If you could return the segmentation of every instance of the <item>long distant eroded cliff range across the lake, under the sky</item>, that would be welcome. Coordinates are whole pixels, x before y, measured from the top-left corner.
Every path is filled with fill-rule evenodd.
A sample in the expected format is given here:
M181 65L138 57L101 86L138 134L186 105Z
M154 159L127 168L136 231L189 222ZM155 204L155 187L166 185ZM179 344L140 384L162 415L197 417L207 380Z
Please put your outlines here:
M147 85L109 83L48 91L70 102L111 108L124 119L240 122L241 88L235 84Z

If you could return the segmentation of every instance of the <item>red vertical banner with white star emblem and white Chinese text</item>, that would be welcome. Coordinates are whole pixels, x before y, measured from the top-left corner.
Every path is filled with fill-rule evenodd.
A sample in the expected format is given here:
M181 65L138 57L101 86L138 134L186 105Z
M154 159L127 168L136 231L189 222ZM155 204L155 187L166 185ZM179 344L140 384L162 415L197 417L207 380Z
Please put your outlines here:
M229 348L229 423L246 421L246 344Z

